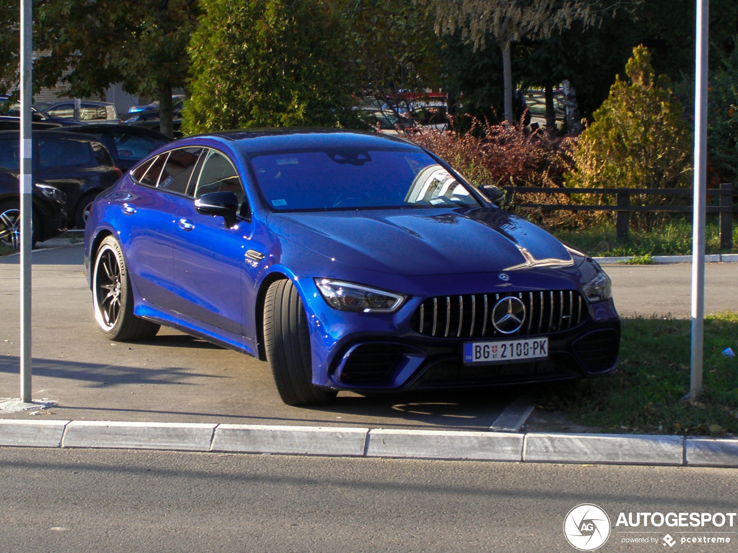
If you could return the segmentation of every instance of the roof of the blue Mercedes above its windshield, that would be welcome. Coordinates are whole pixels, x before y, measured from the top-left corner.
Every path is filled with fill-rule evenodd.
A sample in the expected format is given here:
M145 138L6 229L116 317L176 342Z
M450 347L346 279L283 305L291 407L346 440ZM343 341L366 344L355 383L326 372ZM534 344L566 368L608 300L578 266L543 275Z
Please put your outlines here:
M336 128L255 128L239 131L221 131L190 138L225 139L235 142L241 153L334 147L399 146L420 149L412 142L407 142L396 136Z

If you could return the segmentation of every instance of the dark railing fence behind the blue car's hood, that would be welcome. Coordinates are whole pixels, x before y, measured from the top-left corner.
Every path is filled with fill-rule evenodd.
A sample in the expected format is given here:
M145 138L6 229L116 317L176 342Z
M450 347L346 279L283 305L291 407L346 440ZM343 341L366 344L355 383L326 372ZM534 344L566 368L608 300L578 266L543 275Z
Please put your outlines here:
M632 206L630 196L689 196L691 188L548 188L548 187L503 187L508 194L612 194L615 195L614 206L582 206L570 204L514 204L523 209L541 209L542 211L610 211L615 212L615 230L618 240L627 240L630 233L630 213L639 212L692 212L692 206ZM733 247L733 214L738 213L738 206L733 204L733 184L720 184L720 188L710 188L708 196L719 198L719 205L706 206L708 213L720 213L720 248Z

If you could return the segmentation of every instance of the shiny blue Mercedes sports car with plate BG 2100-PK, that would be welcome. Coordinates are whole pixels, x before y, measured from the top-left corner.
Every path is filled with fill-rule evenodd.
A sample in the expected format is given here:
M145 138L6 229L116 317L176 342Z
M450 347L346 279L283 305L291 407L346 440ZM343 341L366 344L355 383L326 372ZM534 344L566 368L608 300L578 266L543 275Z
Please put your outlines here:
M178 140L94 202L94 314L111 340L163 324L268 361L291 405L612 372L607 274L487 191L377 134Z

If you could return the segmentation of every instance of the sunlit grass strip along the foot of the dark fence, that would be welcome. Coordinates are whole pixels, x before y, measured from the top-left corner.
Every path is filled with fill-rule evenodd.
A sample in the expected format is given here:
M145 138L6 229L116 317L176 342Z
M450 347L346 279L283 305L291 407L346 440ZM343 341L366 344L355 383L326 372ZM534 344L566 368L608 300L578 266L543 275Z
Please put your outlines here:
M616 240L613 224L605 224L593 229L553 229L550 232L559 240L593 257L692 254L692 220L687 218L673 219L664 224L661 229L631 230L627 242ZM733 246L731 250L720 249L718 218L708 217L705 227L705 252L707 254L738 253L738 224L733 226Z

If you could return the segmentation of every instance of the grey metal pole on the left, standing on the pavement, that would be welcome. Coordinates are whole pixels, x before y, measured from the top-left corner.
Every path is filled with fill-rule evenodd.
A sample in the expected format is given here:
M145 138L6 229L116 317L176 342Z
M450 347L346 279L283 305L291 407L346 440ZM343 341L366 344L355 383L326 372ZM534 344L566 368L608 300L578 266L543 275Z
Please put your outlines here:
M31 401L31 0L21 0L21 400Z

